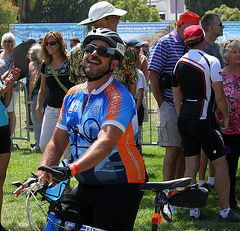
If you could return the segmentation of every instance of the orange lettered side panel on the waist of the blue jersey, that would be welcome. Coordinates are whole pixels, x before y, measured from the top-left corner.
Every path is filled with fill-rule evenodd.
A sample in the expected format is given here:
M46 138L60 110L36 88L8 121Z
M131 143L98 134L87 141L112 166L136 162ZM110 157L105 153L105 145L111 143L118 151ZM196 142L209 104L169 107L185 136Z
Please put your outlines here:
M117 148L126 169L128 183L144 183L145 165L141 153L135 146L132 123L117 142Z

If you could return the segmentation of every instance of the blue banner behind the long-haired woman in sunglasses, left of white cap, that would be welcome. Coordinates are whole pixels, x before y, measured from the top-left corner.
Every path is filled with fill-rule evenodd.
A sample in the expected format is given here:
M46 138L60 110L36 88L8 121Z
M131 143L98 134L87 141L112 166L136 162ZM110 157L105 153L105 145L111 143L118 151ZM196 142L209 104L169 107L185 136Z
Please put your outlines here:
M78 26L77 23L37 23L37 24L14 24L13 32L16 39L16 46L28 38L36 41L51 30L61 32L67 43L68 51L70 48L70 38L78 37L80 41L85 38L85 26Z

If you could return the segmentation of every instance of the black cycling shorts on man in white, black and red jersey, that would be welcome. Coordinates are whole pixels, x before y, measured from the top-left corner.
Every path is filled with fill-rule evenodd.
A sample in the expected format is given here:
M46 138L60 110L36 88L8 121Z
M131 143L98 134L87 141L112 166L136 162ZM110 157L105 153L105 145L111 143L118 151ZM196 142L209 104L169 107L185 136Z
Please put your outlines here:
M186 157L199 155L201 147L211 161L225 155L223 138L215 119L197 120L180 117L178 129Z

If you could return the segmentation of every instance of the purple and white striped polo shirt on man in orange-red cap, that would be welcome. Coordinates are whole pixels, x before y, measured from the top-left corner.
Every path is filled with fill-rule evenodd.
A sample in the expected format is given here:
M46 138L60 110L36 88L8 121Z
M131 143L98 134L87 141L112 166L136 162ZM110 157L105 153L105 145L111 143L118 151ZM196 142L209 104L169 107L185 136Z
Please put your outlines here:
M188 51L184 42L180 39L176 30L160 38L152 47L148 69L155 70L159 75L167 73L172 74L172 71L177 61ZM172 89L162 90L164 100L173 104Z

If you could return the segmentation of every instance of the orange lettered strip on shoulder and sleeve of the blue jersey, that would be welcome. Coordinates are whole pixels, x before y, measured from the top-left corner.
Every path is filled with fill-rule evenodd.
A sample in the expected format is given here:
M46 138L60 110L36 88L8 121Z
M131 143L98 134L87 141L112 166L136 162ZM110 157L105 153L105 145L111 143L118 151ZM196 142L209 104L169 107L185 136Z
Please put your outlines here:
M113 81L107 86L104 93L109 101L106 110L106 120L117 121L122 106L122 93Z

